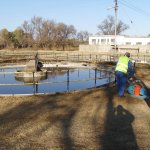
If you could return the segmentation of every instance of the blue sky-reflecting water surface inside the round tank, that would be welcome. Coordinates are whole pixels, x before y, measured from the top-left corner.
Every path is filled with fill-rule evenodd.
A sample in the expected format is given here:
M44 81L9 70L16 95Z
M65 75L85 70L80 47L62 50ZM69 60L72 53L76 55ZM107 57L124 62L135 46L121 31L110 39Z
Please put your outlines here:
M35 81L36 84L28 85L24 81L15 78L14 72L17 70L18 68L0 69L0 94L33 94L83 90L114 81L113 77L106 77L108 76L106 71L70 69L48 71L47 78Z

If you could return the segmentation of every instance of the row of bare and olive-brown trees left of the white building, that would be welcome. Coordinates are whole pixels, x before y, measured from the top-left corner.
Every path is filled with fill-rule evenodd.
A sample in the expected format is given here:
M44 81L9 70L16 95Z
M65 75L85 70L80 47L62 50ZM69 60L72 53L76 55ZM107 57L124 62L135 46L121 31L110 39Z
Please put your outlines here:
M0 49L78 49L79 44L88 42L87 31L77 32L73 25L56 23L41 17L24 21L13 32L0 30Z

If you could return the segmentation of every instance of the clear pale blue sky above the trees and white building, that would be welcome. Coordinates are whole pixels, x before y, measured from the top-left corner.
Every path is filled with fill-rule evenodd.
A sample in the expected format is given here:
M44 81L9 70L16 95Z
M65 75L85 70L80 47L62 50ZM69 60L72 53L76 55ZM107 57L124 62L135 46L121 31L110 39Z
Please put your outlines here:
M114 15L114 0L1 0L0 30L9 31L34 16L74 25L77 31L98 32L97 25ZM118 0L118 19L130 26L126 35L150 34L150 0Z

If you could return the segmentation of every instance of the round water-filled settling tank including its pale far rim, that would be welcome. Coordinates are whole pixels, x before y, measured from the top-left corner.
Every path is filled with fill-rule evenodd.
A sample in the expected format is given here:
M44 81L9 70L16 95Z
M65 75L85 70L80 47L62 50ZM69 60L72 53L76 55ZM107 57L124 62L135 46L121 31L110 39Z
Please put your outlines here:
M0 94L46 94L83 90L103 86L114 81L114 75L108 70L99 70L93 66L44 65L46 76L34 78L18 77L20 67L0 69Z

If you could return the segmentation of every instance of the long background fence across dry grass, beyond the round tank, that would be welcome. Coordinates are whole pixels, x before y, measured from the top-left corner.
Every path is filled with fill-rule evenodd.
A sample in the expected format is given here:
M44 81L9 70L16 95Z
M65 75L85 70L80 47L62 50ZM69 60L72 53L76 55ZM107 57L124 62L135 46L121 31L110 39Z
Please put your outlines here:
M0 52L0 62L29 61L35 58L37 51L29 52ZM58 52L58 51L38 51L38 58L44 63L52 61L72 61L72 62L103 62L117 61L121 54L110 53L83 53L83 52ZM150 54L131 54L131 59L135 62L150 63Z

